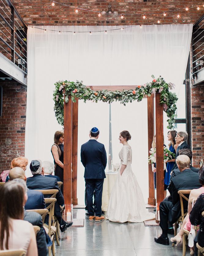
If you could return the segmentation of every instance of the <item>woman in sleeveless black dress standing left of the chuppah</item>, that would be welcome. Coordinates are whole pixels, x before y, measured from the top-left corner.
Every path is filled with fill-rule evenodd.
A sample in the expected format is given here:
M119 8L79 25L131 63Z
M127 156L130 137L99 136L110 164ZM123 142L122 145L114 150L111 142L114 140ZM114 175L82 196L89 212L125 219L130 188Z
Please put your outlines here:
M61 182L64 182L64 132L57 131L54 134L54 144L51 152L54 158L54 175L59 176ZM61 186L63 194L63 186Z

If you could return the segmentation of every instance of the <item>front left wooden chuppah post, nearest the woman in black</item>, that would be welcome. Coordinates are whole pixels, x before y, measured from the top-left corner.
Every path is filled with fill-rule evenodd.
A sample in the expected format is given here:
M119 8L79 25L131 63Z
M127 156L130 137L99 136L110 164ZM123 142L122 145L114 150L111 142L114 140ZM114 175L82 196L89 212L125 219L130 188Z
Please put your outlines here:
M64 199L72 203L72 99L64 100Z

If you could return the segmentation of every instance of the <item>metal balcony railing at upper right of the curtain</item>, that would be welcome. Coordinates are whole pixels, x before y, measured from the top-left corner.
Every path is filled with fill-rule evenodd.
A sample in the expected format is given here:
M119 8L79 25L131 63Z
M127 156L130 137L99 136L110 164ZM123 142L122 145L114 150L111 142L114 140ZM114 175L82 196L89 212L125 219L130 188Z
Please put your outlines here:
M204 69L204 15L194 24L192 34L192 74Z

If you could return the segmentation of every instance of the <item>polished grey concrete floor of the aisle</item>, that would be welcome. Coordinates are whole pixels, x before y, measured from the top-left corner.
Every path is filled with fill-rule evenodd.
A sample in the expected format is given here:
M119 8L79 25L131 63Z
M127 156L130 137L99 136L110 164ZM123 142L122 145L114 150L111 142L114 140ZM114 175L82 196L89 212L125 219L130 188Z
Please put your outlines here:
M70 227L61 233L56 256L181 256L182 244L163 246L154 242L159 226L144 223L88 221L84 209L74 209L74 218L84 218L84 227ZM169 235L169 240L171 235ZM190 255L187 251L186 255Z

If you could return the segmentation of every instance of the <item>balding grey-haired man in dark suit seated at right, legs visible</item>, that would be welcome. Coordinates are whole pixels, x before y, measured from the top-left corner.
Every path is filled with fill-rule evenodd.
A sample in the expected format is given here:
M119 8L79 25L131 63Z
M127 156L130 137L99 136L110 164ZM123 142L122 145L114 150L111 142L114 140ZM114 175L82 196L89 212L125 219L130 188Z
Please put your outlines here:
M176 222L181 215L180 197L178 191L181 189L199 188L199 175L190 169L190 158L185 155L176 158L176 164L181 172L180 175L174 177L169 184L169 193L172 200L163 200L159 206L160 227L162 234L160 237L155 237L154 241L159 244L169 245L168 238L168 223L170 226ZM184 200L184 211L187 211L187 201Z

